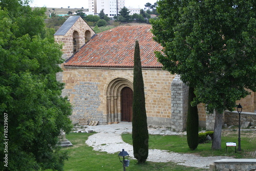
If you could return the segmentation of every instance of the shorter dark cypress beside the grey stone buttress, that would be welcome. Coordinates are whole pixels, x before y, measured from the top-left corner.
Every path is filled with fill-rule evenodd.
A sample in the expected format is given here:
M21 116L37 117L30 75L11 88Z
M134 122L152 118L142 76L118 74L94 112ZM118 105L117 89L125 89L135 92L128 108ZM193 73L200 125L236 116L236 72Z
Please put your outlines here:
M194 88L189 87L188 90L188 112L187 112L187 144L192 150L196 149L198 146L198 110L197 105L191 106L191 101L193 101L196 95L194 94Z

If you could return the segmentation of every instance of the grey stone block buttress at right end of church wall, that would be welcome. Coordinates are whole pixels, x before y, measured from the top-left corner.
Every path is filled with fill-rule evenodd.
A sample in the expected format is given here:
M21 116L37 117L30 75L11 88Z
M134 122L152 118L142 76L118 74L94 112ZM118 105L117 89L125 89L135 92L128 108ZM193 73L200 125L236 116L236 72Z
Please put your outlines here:
M184 131L186 129L188 109L188 86L176 75L171 84L172 96L172 131Z

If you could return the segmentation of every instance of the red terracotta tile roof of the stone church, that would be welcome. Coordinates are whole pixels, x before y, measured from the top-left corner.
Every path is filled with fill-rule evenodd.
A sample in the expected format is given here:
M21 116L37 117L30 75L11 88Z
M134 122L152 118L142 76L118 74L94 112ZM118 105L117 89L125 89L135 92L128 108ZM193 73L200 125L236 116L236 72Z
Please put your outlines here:
M65 63L77 67L128 67L134 66L135 41L139 41L143 68L161 68L154 51L162 47L153 40L151 26L119 26L98 33L79 52Z

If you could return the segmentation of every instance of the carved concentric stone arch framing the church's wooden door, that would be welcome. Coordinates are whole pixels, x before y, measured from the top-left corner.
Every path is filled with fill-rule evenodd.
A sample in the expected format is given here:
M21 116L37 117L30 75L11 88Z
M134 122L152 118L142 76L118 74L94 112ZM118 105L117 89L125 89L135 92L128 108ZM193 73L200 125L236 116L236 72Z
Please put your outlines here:
M106 120L108 124L121 121L121 92L128 87L133 90L133 83L125 78L113 79L106 89Z

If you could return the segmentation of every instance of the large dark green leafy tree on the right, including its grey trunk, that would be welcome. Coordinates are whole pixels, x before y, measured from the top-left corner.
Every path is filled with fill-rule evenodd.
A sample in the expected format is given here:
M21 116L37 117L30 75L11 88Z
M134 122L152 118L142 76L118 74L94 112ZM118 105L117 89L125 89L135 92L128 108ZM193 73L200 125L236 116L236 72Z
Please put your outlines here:
M151 20L164 69L195 88L194 105L216 112L212 149L221 148L223 111L256 91L255 8L243 0L163 0Z

